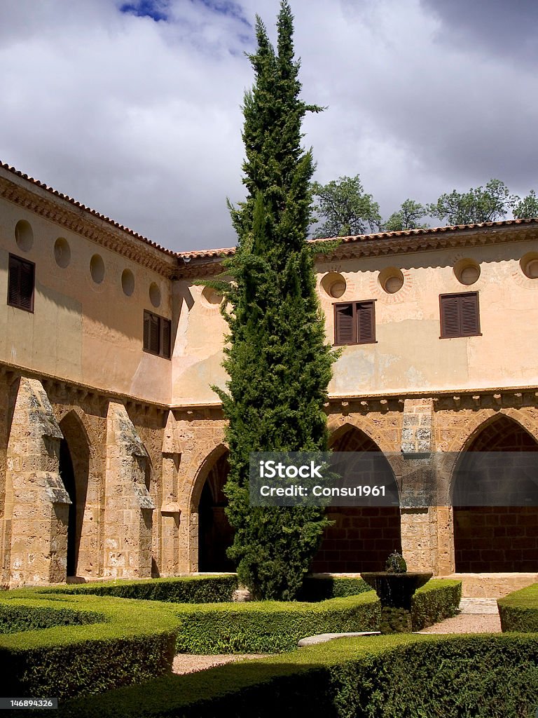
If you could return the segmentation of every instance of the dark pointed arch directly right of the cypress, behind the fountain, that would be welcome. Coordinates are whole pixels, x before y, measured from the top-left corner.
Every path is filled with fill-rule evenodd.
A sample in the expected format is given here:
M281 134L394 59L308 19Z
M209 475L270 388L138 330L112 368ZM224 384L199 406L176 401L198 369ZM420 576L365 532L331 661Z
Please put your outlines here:
M339 434L332 445L333 452L378 452L377 444L360 429L350 426ZM382 457L377 461L379 484L391 486L398 495L394 473ZM400 507L391 506L334 506L327 509L333 526L324 535L312 572L356 573L381 571L392 551L402 550L400 535Z

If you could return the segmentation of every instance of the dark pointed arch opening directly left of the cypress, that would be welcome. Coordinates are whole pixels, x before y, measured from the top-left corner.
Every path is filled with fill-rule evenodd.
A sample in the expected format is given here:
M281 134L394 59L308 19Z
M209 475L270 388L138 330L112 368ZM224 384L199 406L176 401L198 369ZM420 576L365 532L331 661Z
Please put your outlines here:
M234 571L226 556L233 531L225 514L227 498L223 492L230 467L224 452L207 472L198 505L198 570Z

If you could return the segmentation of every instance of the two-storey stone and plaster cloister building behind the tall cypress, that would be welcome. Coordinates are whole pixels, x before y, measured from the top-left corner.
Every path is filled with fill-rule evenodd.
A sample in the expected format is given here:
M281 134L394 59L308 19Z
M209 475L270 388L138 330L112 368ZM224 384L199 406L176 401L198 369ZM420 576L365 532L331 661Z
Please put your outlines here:
M233 569L227 327L194 284L232 252L166 250L0 166L4 586ZM400 505L331 508L312 570L402 549L436 575L537 579L538 506L421 506L405 478L450 493L466 452L538 450L538 220L346 237L316 272L342 346L331 447L383 452Z

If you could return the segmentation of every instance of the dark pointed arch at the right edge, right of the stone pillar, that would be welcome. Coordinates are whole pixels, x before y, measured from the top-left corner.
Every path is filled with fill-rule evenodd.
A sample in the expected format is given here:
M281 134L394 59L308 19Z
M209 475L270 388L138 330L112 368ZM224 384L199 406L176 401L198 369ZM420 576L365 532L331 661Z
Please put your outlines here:
M471 437L453 479L456 572L536 571L538 506L525 501L537 485L522 470L522 452L538 452L538 443L504 414ZM490 505L478 505L485 496Z

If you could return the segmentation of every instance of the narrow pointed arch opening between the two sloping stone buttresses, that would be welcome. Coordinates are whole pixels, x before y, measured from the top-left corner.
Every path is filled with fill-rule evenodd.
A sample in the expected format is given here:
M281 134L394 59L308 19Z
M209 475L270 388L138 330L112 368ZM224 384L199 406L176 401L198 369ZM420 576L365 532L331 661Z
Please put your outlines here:
M60 421L60 477L71 499L67 523L67 576L95 573L98 563L97 526L85 520L88 500L90 449L80 419L74 412Z

